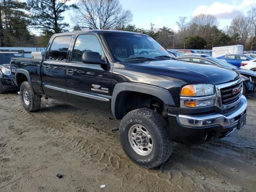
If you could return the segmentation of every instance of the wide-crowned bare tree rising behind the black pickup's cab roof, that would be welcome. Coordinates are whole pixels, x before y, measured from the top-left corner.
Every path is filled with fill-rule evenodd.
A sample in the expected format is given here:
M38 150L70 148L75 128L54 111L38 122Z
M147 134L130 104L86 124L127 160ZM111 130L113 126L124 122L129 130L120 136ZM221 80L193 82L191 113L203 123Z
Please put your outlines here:
M130 10L123 10L118 0L81 0L74 14L80 28L115 29L132 20Z

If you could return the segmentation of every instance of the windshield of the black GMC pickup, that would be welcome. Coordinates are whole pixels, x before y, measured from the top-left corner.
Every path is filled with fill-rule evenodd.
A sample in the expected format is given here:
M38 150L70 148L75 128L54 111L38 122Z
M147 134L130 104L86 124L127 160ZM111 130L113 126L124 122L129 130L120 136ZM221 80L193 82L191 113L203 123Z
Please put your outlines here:
M170 58L170 54L152 37L140 34L106 33L104 37L116 62ZM163 57L162 57L163 56Z

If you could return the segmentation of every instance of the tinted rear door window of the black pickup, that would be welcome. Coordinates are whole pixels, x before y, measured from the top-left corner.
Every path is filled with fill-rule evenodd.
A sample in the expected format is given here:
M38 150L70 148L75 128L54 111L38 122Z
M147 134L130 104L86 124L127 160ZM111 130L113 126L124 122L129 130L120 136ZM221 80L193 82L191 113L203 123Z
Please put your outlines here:
M71 38L70 35L56 37L52 42L48 59L66 61Z

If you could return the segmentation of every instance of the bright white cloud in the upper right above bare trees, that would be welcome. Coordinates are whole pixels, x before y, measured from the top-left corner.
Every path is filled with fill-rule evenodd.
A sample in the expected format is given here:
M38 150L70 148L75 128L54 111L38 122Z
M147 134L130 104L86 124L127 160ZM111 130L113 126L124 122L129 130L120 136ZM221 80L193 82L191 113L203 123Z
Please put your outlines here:
M245 8L256 6L256 0L243 0L239 5L236 1L233 4L214 2L211 6L201 5L194 10L193 15L212 14L219 19L232 19L238 14L243 14Z

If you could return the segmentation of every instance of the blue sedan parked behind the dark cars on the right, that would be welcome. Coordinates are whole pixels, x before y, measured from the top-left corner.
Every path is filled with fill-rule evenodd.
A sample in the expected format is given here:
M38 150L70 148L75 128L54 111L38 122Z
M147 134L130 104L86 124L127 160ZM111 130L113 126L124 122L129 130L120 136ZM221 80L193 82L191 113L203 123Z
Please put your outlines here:
M242 61L249 61L249 60L252 60L253 58L248 55L229 54L229 55L217 57L217 59L225 60L226 62L236 67L240 67Z

